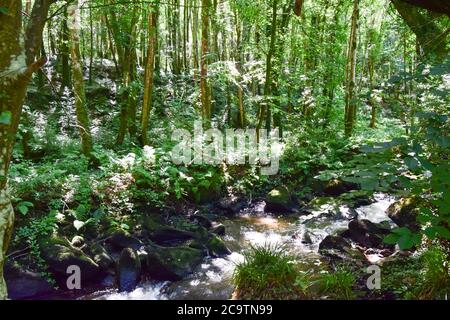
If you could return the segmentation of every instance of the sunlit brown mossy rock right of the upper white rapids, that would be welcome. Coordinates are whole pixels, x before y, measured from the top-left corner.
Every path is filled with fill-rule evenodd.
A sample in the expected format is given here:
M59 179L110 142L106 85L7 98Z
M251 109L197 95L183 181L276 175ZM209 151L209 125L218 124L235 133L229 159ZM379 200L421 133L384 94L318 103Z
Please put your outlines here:
M402 198L391 204L386 213L399 227L407 227L418 231L420 225L416 218L419 213L417 198Z

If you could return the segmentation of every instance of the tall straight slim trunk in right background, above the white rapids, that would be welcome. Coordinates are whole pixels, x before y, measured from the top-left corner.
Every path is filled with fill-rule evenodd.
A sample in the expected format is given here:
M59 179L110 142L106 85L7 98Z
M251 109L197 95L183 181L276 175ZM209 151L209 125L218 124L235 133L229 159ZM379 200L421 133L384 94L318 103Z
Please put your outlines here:
M359 0L354 0L346 65L345 135L347 137L352 135L356 119L355 83L358 18Z

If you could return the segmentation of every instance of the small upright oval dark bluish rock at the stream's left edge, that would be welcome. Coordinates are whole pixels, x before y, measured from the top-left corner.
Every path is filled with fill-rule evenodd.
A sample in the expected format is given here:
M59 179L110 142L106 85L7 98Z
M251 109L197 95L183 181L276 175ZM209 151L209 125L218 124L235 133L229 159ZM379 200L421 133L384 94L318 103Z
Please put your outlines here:
M141 261L132 248L125 248L120 253L117 265L117 286L119 292L133 291L141 278Z

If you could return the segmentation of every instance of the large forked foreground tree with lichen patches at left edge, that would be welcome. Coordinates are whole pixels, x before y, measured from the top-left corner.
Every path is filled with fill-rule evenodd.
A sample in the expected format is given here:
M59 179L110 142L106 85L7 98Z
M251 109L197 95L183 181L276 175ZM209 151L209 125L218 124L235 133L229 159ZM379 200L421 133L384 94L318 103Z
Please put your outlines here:
M12 235L14 210L8 190L8 169L31 75L45 63L36 60L42 31L54 0L36 0L22 33L22 1L0 0L0 299L7 297L3 266Z

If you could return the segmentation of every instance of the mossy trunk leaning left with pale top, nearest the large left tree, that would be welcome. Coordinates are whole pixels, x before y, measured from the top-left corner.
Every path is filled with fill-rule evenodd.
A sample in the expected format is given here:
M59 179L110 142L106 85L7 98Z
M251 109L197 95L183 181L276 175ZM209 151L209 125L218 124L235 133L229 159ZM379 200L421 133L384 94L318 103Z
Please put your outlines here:
M81 137L81 150L86 157L91 157L92 136L89 128L89 115L86 108L86 93L83 79L83 61L80 54L80 16L78 1L75 0L67 7L69 47L72 69L73 93L75 96L75 112L77 126Z

